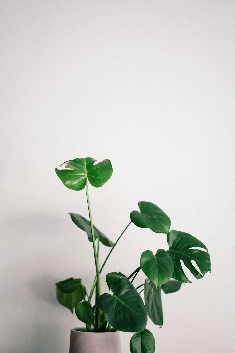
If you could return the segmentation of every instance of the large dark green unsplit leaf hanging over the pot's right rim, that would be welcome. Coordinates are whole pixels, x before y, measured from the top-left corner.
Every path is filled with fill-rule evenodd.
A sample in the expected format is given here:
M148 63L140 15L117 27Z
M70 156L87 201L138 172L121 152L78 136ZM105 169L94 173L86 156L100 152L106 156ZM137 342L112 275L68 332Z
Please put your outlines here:
M107 322L116 330L141 332L146 328L147 311L140 294L127 278L111 284L111 294L102 294L98 305Z

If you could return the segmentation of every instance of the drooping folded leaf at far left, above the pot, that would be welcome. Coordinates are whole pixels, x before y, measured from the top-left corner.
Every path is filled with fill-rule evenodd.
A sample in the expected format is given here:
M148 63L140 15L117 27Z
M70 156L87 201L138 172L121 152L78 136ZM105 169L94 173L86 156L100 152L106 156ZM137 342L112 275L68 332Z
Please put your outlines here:
M62 292L59 288L61 288L65 292ZM70 292L72 288L77 289L75 289L75 291L73 292ZM73 277L71 277L65 281L56 283L56 297L58 299L58 302L61 305L67 307L69 310L71 310L72 313L75 305L81 300L85 299L85 295L86 288L81 284L80 279L73 279Z

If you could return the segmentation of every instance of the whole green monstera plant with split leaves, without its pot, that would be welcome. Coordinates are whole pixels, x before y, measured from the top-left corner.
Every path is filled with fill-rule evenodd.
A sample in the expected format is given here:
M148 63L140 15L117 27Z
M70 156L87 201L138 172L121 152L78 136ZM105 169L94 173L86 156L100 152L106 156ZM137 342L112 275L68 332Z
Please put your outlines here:
M210 255L206 246L192 235L171 230L169 217L154 203L141 201L139 211L130 213L130 223L113 243L105 234L93 225L91 206L88 194L88 182L94 187L103 186L112 175L112 165L108 159L75 158L56 167L56 174L69 189L80 191L86 188L89 220L84 216L70 213L75 225L87 233L92 243L96 275L91 291L82 285L80 278L73 277L56 283L57 299L63 306L86 324L90 332L125 331L133 332L130 340L131 353L154 353L153 334L146 329L148 317L160 327L163 324L161 293L176 292L181 283L190 282L181 266L181 260L196 279L202 278L210 271ZM112 272L106 275L106 282L112 293L101 292L100 274L104 265L122 237L123 233L134 223L141 228L149 228L155 233L166 234L169 249L159 249L153 253L145 250L139 266L129 275ZM100 243L110 247L110 252L103 264L99 266ZM143 244L144 246L144 244ZM196 248L202 248L199 250ZM195 262L200 272L194 267ZM143 271L145 282L135 287L134 280ZM140 292L139 292L140 291ZM144 291L144 299L140 293ZM93 293L95 300L91 304Z

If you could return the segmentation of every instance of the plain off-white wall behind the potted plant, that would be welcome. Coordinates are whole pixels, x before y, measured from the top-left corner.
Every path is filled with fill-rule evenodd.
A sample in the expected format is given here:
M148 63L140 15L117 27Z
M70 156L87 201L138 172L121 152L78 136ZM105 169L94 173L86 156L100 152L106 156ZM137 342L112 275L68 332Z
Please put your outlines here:
M211 273L162 295L163 327L149 319L156 352L234 352L235 2L0 5L1 352L66 353L81 325L54 284L93 282L92 245L68 215L88 216L86 195L55 167L88 156L113 165L89 188L94 224L112 240L150 201L210 252ZM107 272L129 275L159 248L165 235L132 224L103 292ZM121 333L123 353L131 335Z

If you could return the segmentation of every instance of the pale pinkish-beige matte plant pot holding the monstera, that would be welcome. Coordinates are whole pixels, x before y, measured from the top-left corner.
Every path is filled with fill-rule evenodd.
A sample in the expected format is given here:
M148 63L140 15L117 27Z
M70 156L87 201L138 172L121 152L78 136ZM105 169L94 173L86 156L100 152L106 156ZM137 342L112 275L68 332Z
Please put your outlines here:
M71 330L69 353L122 353L119 332L87 332L75 327Z

